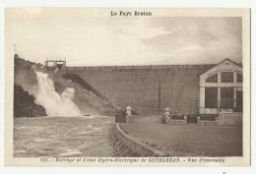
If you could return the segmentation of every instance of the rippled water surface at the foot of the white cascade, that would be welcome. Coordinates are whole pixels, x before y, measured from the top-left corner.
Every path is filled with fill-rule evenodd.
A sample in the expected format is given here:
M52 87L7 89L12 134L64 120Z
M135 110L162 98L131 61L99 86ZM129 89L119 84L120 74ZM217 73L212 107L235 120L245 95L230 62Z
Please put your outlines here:
M14 120L14 156L112 156L113 117L38 117Z

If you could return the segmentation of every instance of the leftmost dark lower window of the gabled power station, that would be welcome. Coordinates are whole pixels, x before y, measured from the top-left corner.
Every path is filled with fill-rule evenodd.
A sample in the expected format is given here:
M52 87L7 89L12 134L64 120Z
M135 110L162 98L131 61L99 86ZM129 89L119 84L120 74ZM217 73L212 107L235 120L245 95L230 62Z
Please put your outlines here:
M218 107L218 87L206 87L205 91L205 107Z

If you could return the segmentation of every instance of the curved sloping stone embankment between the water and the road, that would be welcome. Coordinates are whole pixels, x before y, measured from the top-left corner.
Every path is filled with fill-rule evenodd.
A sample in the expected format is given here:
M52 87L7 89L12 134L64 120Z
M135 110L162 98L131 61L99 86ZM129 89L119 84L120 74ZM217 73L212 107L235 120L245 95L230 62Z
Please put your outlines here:
M115 157L168 156L159 149L127 135L118 123L109 130L109 140L113 145Z

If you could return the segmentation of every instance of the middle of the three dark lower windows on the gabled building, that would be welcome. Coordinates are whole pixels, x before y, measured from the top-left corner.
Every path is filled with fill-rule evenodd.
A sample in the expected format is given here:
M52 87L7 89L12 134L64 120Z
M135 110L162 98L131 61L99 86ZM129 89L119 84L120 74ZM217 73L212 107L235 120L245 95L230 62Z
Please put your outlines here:
M221 107L233 108L233 87L221 87Z

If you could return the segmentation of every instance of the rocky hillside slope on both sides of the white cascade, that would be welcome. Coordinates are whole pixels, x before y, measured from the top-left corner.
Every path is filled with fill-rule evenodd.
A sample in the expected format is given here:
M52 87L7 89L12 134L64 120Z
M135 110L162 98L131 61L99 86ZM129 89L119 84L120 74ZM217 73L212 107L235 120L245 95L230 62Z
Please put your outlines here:
M116 107L110 101L101 96L94 87L79 76L66 75L65 68L57 73L52 73L51 71L46 71L41 64L32 63L16 56L15 85L24 87L30 94L36 96L38 84L33 70L49 74L48 77L52 79L55 90L58 93L62 93L66 87L73 87L75 89L73 100L82 111L82 114L114 115Z

